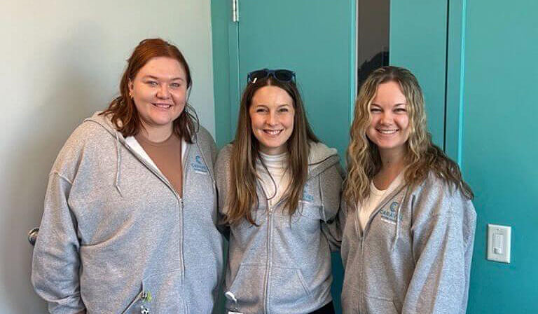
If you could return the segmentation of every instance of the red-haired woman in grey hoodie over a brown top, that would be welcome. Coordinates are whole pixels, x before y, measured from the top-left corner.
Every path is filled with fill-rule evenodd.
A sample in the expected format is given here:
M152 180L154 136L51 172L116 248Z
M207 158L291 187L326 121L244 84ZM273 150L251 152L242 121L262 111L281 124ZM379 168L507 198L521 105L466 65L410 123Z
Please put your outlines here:
M67 139L32 264L50 313L212 313L216 149L187 103L191 86L177 47L145 39L120 95Z

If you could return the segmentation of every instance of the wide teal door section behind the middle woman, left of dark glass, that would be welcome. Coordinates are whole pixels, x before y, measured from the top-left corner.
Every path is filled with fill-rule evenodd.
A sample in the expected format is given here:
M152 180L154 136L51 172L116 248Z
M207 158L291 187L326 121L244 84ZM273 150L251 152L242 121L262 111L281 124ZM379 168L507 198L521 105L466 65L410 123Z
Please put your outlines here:
M238 93L249 71L296 71L316 135L344 156L354 102L354 0L239 0ZM239 99L231 104L235 130Z

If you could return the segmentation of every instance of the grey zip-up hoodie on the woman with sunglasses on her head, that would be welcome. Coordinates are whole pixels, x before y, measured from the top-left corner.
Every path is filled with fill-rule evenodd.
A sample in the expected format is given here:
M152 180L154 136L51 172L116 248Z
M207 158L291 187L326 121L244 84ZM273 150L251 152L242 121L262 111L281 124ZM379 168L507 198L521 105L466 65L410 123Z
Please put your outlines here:
M215 165L221 213L226 212L231 151L231 144L224 147ZM283 211L284 200L269 205L258 180L259 205L252 210L258 226L246 219L230 226L226 308L304 314L332 300L331 252L321 226L338 213L343 180L338 160L336 149L310 145L303 200L291 217Z

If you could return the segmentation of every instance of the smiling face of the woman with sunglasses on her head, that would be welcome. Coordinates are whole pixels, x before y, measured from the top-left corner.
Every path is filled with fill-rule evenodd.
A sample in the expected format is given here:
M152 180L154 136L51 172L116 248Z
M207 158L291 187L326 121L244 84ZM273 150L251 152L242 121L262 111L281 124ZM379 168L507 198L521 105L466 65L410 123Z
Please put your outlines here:
M280 87L264 86L252 96L249 115L260 151L269 155L284 153L294 132L295 109L291 96Z

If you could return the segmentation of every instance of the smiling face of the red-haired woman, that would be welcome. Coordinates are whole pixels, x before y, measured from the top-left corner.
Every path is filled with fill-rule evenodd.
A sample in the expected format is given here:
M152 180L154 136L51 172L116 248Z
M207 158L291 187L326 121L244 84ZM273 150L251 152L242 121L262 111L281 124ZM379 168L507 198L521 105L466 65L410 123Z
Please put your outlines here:
M148 133L172 132L172 123L186 104L184 67L170 57L154 57L129 83L142 125Z

